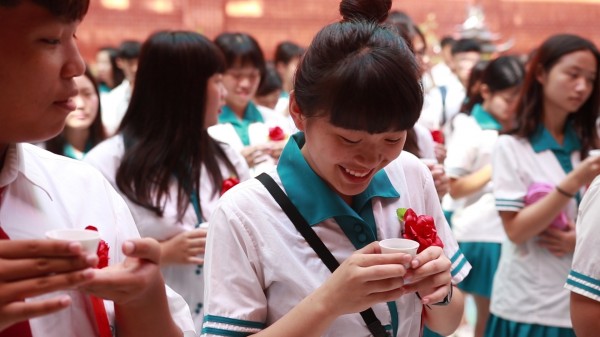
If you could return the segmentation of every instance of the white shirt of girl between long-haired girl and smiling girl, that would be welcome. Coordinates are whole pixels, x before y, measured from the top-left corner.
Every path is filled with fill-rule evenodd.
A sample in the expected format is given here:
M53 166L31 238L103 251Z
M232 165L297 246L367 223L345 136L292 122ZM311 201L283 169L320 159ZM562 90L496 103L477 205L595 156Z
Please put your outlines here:
M269 109L264 106L256 105L256 108L263 117L264 122L251 123L248 126L249 146L262 145L269 142L269 129L280 127L286 136L289 136L294 130L293 122L289 117ZM246 147L235 128L230 123L218 123L208 128L208 133L216 140L229 144L234 150L241 153ZM262 172L275 167L277 162L270 156L265 156L265 161L250 168L250 175L256 176Z

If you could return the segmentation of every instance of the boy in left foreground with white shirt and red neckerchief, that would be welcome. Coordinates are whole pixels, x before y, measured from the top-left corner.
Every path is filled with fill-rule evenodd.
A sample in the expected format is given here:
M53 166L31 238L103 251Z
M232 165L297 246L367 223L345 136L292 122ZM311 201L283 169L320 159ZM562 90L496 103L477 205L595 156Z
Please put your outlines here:
M0 336L194 336L187 305L165 291L159 244L139 238L106 179L23 143L55 136L75 109L85 67L75 33L88 6L0 1L0 43L11 46L0 53ZM79 243L45 238L88 225L108 244L104 269Z

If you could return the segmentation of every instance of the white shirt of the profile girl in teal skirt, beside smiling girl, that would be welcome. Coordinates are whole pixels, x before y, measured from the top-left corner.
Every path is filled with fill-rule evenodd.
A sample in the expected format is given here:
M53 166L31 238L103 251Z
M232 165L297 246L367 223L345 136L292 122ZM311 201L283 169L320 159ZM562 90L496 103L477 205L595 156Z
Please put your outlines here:
M462 178L492 162L492 150L501 125L483 108L476 105L472 114L459 114L453 142L448 147L446 173ZM452 214L452 231L459 242L494 242L506 239L502 219L496 210L493 184L490 180L479 191L462 198L463 203Z

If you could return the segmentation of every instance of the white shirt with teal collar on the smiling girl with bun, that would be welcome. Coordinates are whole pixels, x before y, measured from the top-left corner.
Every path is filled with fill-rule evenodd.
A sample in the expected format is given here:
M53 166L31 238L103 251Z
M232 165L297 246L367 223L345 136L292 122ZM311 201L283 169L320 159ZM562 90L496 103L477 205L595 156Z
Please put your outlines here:
M452 261L453 282L460 282L468 274L471 266L445 221L431 173L415 156L403 153L355 197L363 209L372 210L363 215L363 220L310 169L298 146L303 139L300 133L290 138L277 170L269 174L280 185L286 181L283 185L288 196L340 263L357 250L355 245L373 241L374 233L378 240L400 237L396 209L410 207L417 214L434 217L444 253ZM335 218L330 216L332 212L337 214ZM256 179L225 194L211 223L203 336L256 333L284 316L331 276ZM397 336L419 335L422 304L415 294L377 304L373 310L388 330L397 331ZM369 335L359 313L338 317L324 334Z

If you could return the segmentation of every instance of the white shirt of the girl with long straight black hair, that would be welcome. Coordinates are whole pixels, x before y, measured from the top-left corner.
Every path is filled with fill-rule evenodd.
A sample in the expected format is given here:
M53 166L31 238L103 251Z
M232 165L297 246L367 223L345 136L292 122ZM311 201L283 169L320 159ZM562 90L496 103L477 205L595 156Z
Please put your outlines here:
M244 158L227 144L220 143L220 145L231 163L239 171L237 174L231 172L225 163L221 162L219 163L219 168L221 169L223 178L227 179L235 176L240 181L249 179L250 174ZM116 184L116 174L121 165L124 152L123 136L119 134L98 144L88 153L84 161L96 167L119 192ZM217 187L216 194L213 192L213 183L208 176L206 167L203 165L200 175L199 194L200 208L205 219L200 222L207 220L215 209L217 200L220 197L221 186ZM177 187L174 184L171 186L171 195L177 195ZM190 231L199 224L198 217L191 204L187 208L183 219L177 221L177 199L175 197L169 198L166 201L164 214L162 217L159 217L153 211L132 202L125 195L122 194L122 196L127 202L138 230L143 237L152 237L158 241L164 241L182 232ZM204 298L202 266L173 264L163 266L161 272L167 285L179 293L188 303L196 331L200 331L202 327Z

